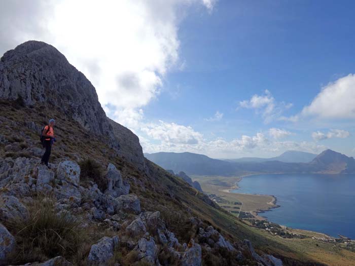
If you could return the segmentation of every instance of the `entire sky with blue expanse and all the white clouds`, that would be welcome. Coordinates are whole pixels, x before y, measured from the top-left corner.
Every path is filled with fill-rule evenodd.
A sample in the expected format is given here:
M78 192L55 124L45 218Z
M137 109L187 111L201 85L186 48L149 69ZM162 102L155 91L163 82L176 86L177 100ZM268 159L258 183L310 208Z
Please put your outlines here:
M355 2L0 0L0 55L56 47L145 153L355 156Z

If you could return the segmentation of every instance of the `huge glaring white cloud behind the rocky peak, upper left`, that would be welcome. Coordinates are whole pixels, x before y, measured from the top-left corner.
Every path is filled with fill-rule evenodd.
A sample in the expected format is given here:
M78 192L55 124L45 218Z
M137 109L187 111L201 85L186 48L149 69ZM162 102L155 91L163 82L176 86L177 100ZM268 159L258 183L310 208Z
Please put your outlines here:
M123 110L116 120L125 124L157 97L169 69L186 65L177 33L192 4L211 11L216 1L3 0L0 54L28 40L55 46L93 83L102 106Z

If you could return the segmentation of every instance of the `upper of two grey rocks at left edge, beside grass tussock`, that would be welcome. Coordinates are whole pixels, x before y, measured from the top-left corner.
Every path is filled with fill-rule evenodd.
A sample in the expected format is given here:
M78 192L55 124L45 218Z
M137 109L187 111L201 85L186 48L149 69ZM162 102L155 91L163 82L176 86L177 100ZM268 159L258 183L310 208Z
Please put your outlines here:
M25 219L28 216L26 207L14 196L2 195L0 197L0 219Z

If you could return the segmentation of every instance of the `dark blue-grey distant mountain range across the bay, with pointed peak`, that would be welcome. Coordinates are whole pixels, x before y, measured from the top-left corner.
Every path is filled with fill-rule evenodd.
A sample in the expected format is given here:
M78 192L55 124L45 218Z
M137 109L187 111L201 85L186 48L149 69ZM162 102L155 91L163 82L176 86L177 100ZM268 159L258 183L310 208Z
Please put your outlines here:
M279 156L283 160L295 159L294 152ZM297 155L298 152L296 152ZM305 153L307 154L307 153ZM311 155L311 154L310 154ZM310 155L309 156L310 158ZM355 173L355 161L333 150L325 150L310 163L285 163L277 160L265 162L227 162L192 153L145 154L146 158L165 169L184 171L190 175L224 175L243 173ZM305 157L304 157L305 158Z

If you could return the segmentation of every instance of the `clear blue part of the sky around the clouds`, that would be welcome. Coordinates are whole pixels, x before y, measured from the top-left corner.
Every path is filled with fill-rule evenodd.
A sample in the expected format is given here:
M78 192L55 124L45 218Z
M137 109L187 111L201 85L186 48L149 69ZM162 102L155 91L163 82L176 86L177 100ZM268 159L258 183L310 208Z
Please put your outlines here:
M324 86L353 73L353 11L351 2L323 1L220 1L211 14L190 10L179 29L186 66L167 75L146 117L190 125L206 138L229 141L278 128L292 133L282 141L313 142L320 146L313 152L326 146L353 155L353 119L265 122L260 112L239 105L268 90L275 102L292 103L281 116L293 116ZM223 113L220 121L205 121L216 111ZM312 138L313 132L331 129L349 136ZM277 153L256 148L240 156Z

